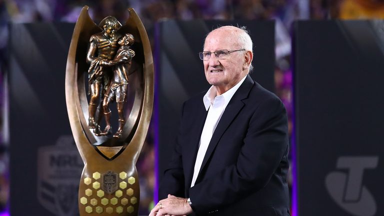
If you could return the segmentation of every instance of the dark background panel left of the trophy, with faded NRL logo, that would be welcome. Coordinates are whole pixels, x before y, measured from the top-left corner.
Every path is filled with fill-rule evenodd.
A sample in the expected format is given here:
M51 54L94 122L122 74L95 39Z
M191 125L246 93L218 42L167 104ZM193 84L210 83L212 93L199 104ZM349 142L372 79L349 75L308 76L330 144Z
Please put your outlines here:
M78 184L83 164L71 136L64 92L73 28L73 23L9 27L11 215L73 215L77 211L73 184ZM71 176L48 177L60 170L70 171ZM69 183L62 181L65 179ZM68 203L59 203L65 198L63 191L59 192L59 182L61 188L67 186Z

